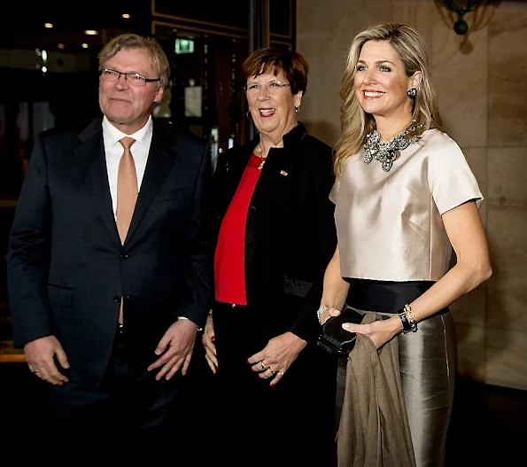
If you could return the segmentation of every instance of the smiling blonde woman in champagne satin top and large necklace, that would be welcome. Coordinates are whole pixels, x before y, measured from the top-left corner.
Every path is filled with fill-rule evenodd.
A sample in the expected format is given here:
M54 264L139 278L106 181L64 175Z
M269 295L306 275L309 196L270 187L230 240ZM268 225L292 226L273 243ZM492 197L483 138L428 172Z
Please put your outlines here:
M478 214L483 195L441 128L428 53L412 28L384 24L356 35L341 97L330 194L337 249L325 274L321 322L338 315L346 297L347 306L384 318L343 327L378 350L397 340L408 465L443 465L456 369L448 306L492 274ZM457 261L449 269L452 248ZM365 384L359 381L353 390ZM355 439L366 429L355 426ZM339 455L344 451L339 446ZM365 465L364 458L353 465Z

